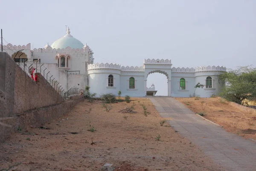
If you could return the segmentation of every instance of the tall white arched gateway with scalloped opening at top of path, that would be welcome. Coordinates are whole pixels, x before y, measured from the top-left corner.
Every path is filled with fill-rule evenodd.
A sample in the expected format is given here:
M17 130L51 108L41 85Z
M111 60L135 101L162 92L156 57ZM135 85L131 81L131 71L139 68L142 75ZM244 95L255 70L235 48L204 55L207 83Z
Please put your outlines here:
M147 89L147 78L151 73L162 73L168 80L168 96L171 96L172 63L169 59L145 59L144 60L144 93Z

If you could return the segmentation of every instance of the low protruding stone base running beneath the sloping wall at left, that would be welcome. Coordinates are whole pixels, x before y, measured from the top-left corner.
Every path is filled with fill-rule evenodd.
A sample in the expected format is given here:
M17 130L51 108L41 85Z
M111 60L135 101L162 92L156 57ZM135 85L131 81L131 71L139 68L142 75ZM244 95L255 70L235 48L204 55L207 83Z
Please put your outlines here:
M0 142L4 141L13 132L16 132L18 128L26 129L30 126L38 127L65 115L70 109L83 100L84 98L75 101L66 101L61 104L17 113L13 117L0 118Z

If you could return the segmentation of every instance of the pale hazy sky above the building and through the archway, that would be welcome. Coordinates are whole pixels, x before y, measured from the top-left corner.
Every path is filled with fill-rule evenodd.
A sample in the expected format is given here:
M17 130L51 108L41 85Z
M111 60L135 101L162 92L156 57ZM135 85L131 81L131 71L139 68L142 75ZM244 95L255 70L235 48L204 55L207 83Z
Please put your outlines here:
M95 62L173 67L256 65L256 0L2 0L0 28L13 45L42 48L71 34ZM4 41L3 43L6 44ZM104 58L104 59L103 59ZM167 95L162 74L148 76Z

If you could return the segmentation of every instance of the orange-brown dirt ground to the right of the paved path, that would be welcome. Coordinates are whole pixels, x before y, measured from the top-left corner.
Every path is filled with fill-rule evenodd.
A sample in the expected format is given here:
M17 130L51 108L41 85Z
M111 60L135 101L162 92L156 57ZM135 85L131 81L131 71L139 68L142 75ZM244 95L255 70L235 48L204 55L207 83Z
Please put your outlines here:
M223 126L244 138L256 140L256 114L244 112L220 98L175 98L196 113L203 113L204 118Z

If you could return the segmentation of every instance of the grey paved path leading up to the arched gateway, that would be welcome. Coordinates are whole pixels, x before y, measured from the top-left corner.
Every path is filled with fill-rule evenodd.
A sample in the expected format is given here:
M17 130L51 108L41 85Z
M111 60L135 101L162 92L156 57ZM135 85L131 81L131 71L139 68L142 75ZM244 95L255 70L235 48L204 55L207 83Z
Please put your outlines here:
M230 171L256 171L256 143L226 132L171 97L150 97L163 118L172 118L169 124L197 144L215 163Z

